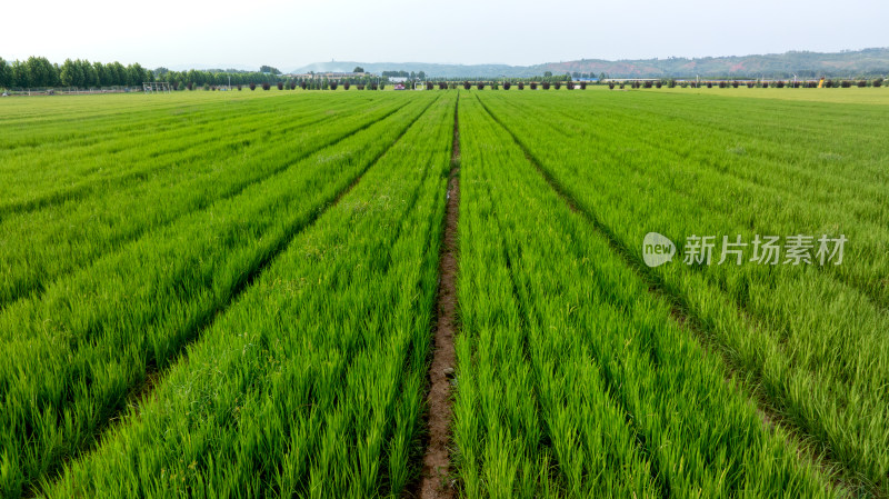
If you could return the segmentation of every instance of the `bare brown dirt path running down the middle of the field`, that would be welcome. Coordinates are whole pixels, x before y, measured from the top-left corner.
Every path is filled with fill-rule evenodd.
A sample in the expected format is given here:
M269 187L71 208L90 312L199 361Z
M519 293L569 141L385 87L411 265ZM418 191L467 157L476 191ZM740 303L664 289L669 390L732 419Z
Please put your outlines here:
M457 332L457 223L460 204L460 131L457 107L453 109L453 148L448 181L448 204L444 211L444 234L439 260L437 323L434 351L429 368L429 442L423 456L419 497L453 498L450 481L451 378L457 363L453 337Z

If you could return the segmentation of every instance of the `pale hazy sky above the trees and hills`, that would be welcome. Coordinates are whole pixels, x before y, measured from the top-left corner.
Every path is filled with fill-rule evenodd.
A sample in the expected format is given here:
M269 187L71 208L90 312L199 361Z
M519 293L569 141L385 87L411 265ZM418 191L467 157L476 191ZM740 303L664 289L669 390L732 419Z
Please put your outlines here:
M148 68L535 64L889 47L886 0L4 2L0 57Z

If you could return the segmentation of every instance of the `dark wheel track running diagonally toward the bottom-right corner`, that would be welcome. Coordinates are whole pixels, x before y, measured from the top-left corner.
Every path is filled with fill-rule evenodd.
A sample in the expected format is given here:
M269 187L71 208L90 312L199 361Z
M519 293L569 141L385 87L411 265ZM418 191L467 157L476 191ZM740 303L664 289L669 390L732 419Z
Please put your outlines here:
M633 257L630 249L627 248L620 241L618 236L609 227L602 223L595 213L588 211L586 208L582 208L582 204L578 203L577 200L568 193L565 187L541 166L531 151L526 148L521 141L519 141L518 137L516 137L516 134L508 127L506 127L506 124L503 124L502 121L490 111L490 109L488 109L481 99L479 99L479 103L482 106L482 108L485 108L488 114L503 130L506 130L507 133L509 133L516 146L521 149L528 162L533 166L533 168L538 171L538 173L540 173L550 188L559 196L559 198L562 199L562 201L565 201L568 208L586 219L590 227L592 227L597 233L605 238L613 253L623 260L627 267L629 267L633 273L637 275L637 277L642 279L642 281L648 285L649 292L652 296L668 303L670 307L670 315L677 325L680 328L690 331L698 339L699 345L703 347L705 351L713 352L710 347L716 347L717 351L715 353L718 355L727 370L727 376L723 381L727 385L737 385L741 388L742 392L747 396L747 399L755 406L757 412L759 413L761 425L767 432L772 433L776 428L780 428L786 436L786 443L790 445L799 459L807 461L815 469L821 472L826 481L831 483L833 487L832 491L839 493L855 493L865 491L872 497L885 497L885 495L881 495L876 487L858 477L855 473L855 470L849 470L843 463L819 453L813 447L813 443L809 441L810 437L797 428L797 426L791 421L788 421L786 418L783 418L775 409L775 402L768 399L761 390L758 390L755 386L752 386L750 381L746 380L743 376L746 371L728 357L728 352L725 351L725 348L719 345L713 346L713 342L708 340L708 337L711 335L708 333L707 326L693 313L688 312L688 310L692 309L691 303L689 303L688 300L681 295L671 293L666 281L656 272L653 272L652 269L643 267L643 263ZM646 452L646 456L648 456L648 452ZM655 463L652 463L652 469L656 468L653 465ZM836 470L841 470L839 476Z

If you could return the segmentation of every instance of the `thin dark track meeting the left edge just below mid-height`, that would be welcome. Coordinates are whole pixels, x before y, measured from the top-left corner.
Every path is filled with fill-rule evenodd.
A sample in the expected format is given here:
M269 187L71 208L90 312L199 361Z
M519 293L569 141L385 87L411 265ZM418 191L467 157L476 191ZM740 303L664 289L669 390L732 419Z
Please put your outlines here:
M219 196L219 197L216 197L216 198L208 198L206 200L202 200L201 203L196 206L194 209L192 209L192 210L182 211L180 213L177 213L173 217L171 217L170 219L168 219L168 220L166 220L166 221L163 221L161 223L147 224L144 227L140 227L139 229L132 231L131 233L124 233L124 234L121 234L119 237L111 238L109 240L109 248L106 251L101 251L99 253L96 253L91 258L86 259L83 262L81 262L79 265L76 265L76 266L71 267L70 269L67 269L67 270L64 270L62 272L57 273L56 276L53 276L51 278L51 280L48 283L44 283L44 285L41 286L40 282L34 282L34 283L31 283L30 286L20 288L19 291L16 293L16 296L12 297L9 300L0 299L0 313L2 313L2 311L7 307L9 307L12 303L16 303L19 300L39 299L47 291L47 289L49 289L53 283L58 282L60 279L63 279L66 276L74 273L80 269L87 268L91 263L93 263L94 261L98 261L98 260L100 260L101 258L103 258L103 257L106 257L108 255L113 255L113 253L117 253L117 252L120 252L120 251L124 251L126 250L126 244L128 244L128 243L130 243L132 241L139 240L141 237L143 237L143 236L146 236L148 233L151 233L152 231L157 231L157 230L162 229L164 227L172 226L173 223L176 223L178 220L180 220L183 217L187 217L187 216L189 216L191 213L206 211L206 210L210 209L213 206L213 203L216 203L216 202L226 201L228 199L237 197L238 194L240 194L244 190L249 189L251 186L264 182L266 180L268 180L268 179L270 179L270 178L272 178L272 177L274 177L274 176L277 176L277 174L279 174L279 173L281 173L281 172L286 171L286 170L288 170L293 163L299 162L299 161L308 158L309 156L313 154L314 152L318 152L318 151L320 151L322 149L326 149L326 148L329 148L329 147L333 147L337 143L342 142L343 140L349 139L350 137L354 136L356 133L359 133L359 132L361 132L363 130L367 130L368 128L372 127L373 124L377 124L380 121L382 121L382 120L391 117L396 112L400 111L401 109L404 108L404 106L407 106L407 104L401 104L401 106L398 106L398 107L393 108L391 111L389 111L386 114L383 114L382 117L380 117L380 119L378 119L377 121L372 121L372 122L362 124L360 127L353 128L350 131L348 131L347 133L338 136L336 138L332 138L332 139L323 142L323 143L321 143L318 147L313 146L310 149L306 149L304 151L301 151L298 156L296 156L292 159L286 161L284 163L282 163L281 166L276 167L276 168L269 170L268 172L266 172L266 173L263 173L263 174L261 174L259 177L246 180L246 181L243 181L241 183L238 183L238 184L233 184L231 187L231 189L228 192L223 193L222 196ZM311 126L311 123L308 124L308 126ZM143 172L138 172L138 174L133 174L133 177L141 177L142 174L143 174ZM84 190L86 191L91 191L93 188L94 188L94 186L88 186L87 189L84 189ZM63 199L62 201L67 201L67 200L68 199Z

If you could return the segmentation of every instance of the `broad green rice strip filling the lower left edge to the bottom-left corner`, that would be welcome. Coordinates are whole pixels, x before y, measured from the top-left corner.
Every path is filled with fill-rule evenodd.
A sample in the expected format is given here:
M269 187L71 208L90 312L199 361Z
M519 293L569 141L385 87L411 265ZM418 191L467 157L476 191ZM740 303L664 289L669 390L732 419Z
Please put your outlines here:
M184 345L369 168L434 96L158 228L0 313L0 491L89 445L150 369ZM288 144L279 158L292 158Z

